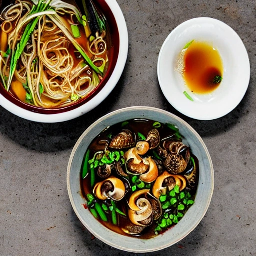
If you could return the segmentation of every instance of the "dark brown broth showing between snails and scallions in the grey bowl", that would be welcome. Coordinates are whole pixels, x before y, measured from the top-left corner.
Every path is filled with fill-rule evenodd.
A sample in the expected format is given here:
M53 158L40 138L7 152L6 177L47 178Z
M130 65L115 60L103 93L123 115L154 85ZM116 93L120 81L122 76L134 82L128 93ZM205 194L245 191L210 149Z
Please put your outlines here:
M105 145L103 144L99 144L100 140L109 140L109 134L112 134L113 136L118 134L122 129L129 129L133 132L135 132L135 134L137 135L137 133L142 133L144 136L147 135L147 133L149 132L149 130L152 129L153 127L153 123L154 121L152 120L142 120L142 119L136 119L136 120L128 120L128 124L126 124L125 126L122 126L121 123L118 123L116 125L111 126L110 128L104 130L103 132L101 132L90 144L89 149L91 150L90 152L90 159L93 157L93 155L95 154L95 152L97 151L101 151L104 150ZM161 124L160 128L157 128L160 134L161 138L166 138L166 137L173 137L173 139L175 140L175 131L171 130L170 128L166 127L166 125ZM111 151L111 149L109 149ZM122 149L124 152L128 149ZM151 153L151 156L153 157L153 154ZM198 165L198 160L197 158L192 155L193 158L196 161L196 165L199 171L199 165ZM191 163L188 164L187 169L191 168ZM186 170L187 170L186 169ZM184 173L186 172L186 170L184 171ZM161 172L162 173L162 172ZM159 175L161 174L159 173ZM120 175L118 175L116 172L112 172L111 175L114 175L120 179L122 179L122 181L125 183L127 183L125 178L120 177ZM192 195L192 199L195 198L195 193L196 193L196 189L197 189L197 182L198 182L198 178L199 175L197 175L197 181L196 181L196 186L191 188L187 188L189 190L189 192ZM98 177L96 175L96 180L95 183L102 181L102 179L100 177ZM85 179L81 178L81 190L82 190L82 195L86 198L86 194L90 193L93 194L93 188L90 185L90 176L87 176ZM127 195L125 196L125 198L128 200L129 196L132 192L129 191L127 193ZM105 203L109 203L107 202L107 200L104 201ZM128 207L127 207L127 203L126 200L121 200L121 201L116 201L116 205L117 207L122 210L127 216L128 216ZM89 210L89 209L86 209ZM111 229L112 231L122 234L122 235L126 235L126 236L131 236L127 233L125 233L122 230L122 227L126 226L127 224L130 223L130 220L128 217L122 216L117 214L118 217L118 224L114 225L111 222L111 213L107 214L107 219L108 221L102 221L99 220L100 223L102 223L104 226L106 226L107 228ZM141 234L139 234L137 237L141 238L141 239L149 239L155 236L155 232L154 229L157 226L157 224L154 222L151 226L146 227L146 229L143 230L143 232ZM170 228L172 228L173 226L171 226ZM167 229L166 229L167 230Z

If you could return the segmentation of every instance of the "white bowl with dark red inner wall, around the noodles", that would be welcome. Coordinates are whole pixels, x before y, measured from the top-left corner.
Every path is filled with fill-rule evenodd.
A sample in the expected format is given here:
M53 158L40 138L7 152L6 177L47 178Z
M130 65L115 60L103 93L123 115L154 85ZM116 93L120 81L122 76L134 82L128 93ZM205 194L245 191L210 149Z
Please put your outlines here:
M123 13L116 0L96 0L97 4L102 8L108 24L111 29L112 37L117 40L113 41L114 57L112 58L111 71L106 74L106 83L93 94L89 100L80 100L73 105L69 105L59 109L43 109L25 104L13 96L1 86L0 88L0 105L11 113L36 122L55 123L74 119L81 116L96 106L98 106L113 90L123 72L127 55L128 55L128 30ZM111 27L112 25L112 27Z

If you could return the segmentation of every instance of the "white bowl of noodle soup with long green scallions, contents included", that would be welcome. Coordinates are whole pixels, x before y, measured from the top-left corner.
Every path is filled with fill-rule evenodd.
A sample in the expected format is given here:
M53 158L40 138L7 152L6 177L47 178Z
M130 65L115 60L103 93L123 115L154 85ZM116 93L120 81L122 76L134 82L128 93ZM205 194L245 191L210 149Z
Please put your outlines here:
M0 104L28 120L89 112L126 63L127 27L113 0L14 0L0 26Z

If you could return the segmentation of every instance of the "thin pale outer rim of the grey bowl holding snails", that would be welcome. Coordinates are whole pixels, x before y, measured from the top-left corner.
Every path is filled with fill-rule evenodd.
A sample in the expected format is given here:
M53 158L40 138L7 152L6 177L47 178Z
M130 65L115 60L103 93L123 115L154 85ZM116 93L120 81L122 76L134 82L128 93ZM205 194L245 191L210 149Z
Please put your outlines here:
M176 239L175 241L173 241L172 243L166 243L164 246L161 246L161 247L154 247L153 249L149 248L141 248L141 249L134 249L134 248L131 248L131 247L127 247L125 244L124 241L122 241L122 245L116 245L116 243L114 241L110 241L110 240L107 240L107 238L104 238L102 236L100 236L97 232L95 232L90 226L87 225L87 223L83 220L82 216L80 215L80 213L78 212L78 209L76 207L76 204L75 204L75 201L74 201L74 197L73 197L73 193L72 193L72 188L71 188L71 182L70 182L70 175L71 175L71 165L72 165L72 159L75 155L75 152L77 150L77 148L79 147L81 141L84 139L84 137L88 134L88 132L90 132L90 130L92 130L94 127L96 127L98 124L100 124L101 122L103 122L105 119L108 119L108 118L111 118L112 116L115 116L115 115L122 115L123 113L125 112L129 112L129 111L154 111L156 113L162 113L162 114L165 114L171 118L174 118L176 119L178 122L181 123L181 125L184 125L186 128L188 128L190 130L190 132L192 132L196 138L199 140L199 143L200 143L200 146L202 146L206 156L207 156L207 161L209 163L209 166L210 166L210 177L211 177L211 182L210 182L210 190L209 190L209 196L207 198L207 203L206 205L204 206L204 210L203 212L201 213L200 217L198 218L198 221L196 221L195 223L193 223L190 227L190 229L185 233L184 236L180 237L179 239ZM116 122L117 123L117 122ZM112 124L113 125L113 124ZM89 141L89 143L94 139L91 138L91 140ZM80 173L80 169L79 169L79 173ZM202 138L200 137L200 135L187 123L185 122L183 119L181 119L180 117L166 111L166 110L163 110L163 109L158 109L158 108L154 108L154 107L148 107L148 106L131 106L131 107L126 107L126 108L122 108L122 109L118 109L118 110L115 110L111 113L108 113L104 116L102 116L101 118L99 118L98 120L96 120L94 123L92 123L82 134L81 136L78 138L77 142L75 143L72 151L71 151L71 154L70 154L70 157L69 157L69 161L68 161L68 166L67 166L67 178L66 178L66 184L67 184L67 191L68 191L68 196L69 196L69 199L70 199L70 202L71 202L71 205L72 205L72 208L76 214L76 216L78 217L78 219L80 220L80 222L86 227L86 229L92 233L95 237L97 237L99 240L103 241L104 243L112 246L112 247L115 247L117 249L120 249L120 250L124 250L124 251L128 251L128 252L136 252L136 253L142 253L142 252L153 252L153 251L158 251L158 250L161 250L161 249L164 249L164 248L167 248L169 246L172 246L174 245L175 243L179 242L180 240L182 240L184 237L186 237L190 232L192 232L196 227L197 225L200 223L200 221L202 220L202 218L205 216L207 210L208 210L208 207L210 205L210 202L211 202L211 198L212 198L212 195L213 195L213 190L214 190L214 169L213 169L213 164L212 164L212 160L211 160L211 157L210 157L210 154L208 152L208 149L205 145L205 143L203 142ZM80 189L80 188L79 188ZM80 191L80 190L79 190ZM97 221L95 219L95 221ZM97 221L98 222L98 221ZM106 229L106 227L104 227L101 223L100 225ZM109 229L108 229L109 230ZM110 230L111 231L111 230ZM113 232L113 231L111 231ZM117 235L117 238L118 236L121 236L121 237L124 237L123 235L121 234L117 234L115 232L113 232L114 234ZM125 236L126 237L126 236ZM130 239L137 239L137 238L133 238L133 237L129 237ZM150 240L150 239L148 239Z

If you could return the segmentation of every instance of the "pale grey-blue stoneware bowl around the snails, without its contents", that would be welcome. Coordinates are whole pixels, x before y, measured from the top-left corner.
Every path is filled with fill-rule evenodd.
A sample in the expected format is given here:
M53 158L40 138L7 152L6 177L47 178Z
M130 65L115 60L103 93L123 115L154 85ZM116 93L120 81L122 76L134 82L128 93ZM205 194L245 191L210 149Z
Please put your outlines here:
M140 239L128 237L115 233L104 227L97 221L88 209L84 208L86 200L81 196L80 170L84 154L93 140L102 130L113 124L129 119L142 118L151 119L162 123L172 123L176 125L180 133L185 137L184 143L191 147L192 152L199 160L199 184L195 203L192 205L184 217L173 228L165 231L151 239ZM82 222L82 224L95 237L104 243L129 252L151 252L169 247L192 232L205 215L213 193L214 173L209 152L198 133L185 121L179 117L152 107L128 107L109 113L94 122L80 136L76 142L68 162L67 167L67 189L72 207Z

